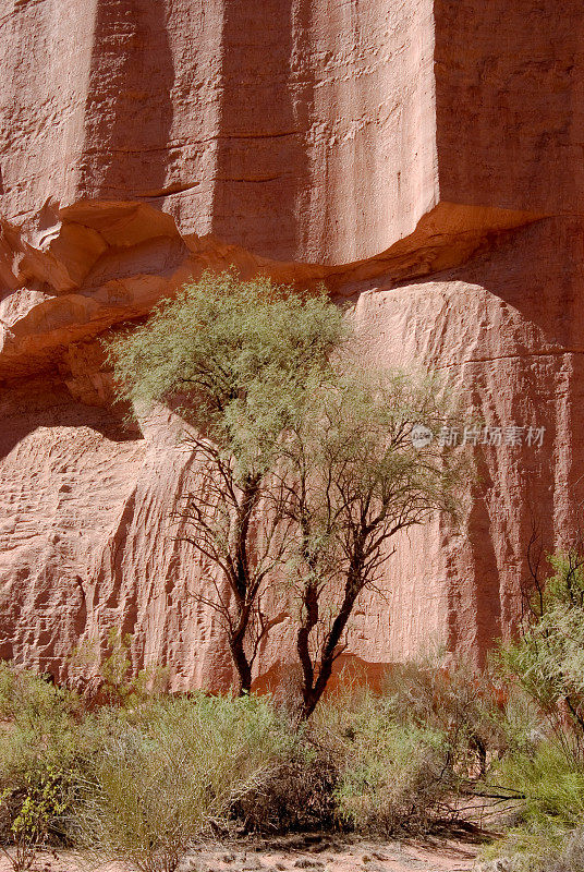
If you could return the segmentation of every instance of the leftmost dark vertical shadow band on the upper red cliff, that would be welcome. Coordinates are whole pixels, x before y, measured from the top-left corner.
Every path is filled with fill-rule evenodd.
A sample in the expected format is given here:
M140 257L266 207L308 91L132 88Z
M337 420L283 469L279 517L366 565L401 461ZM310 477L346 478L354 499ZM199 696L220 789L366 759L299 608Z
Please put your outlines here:
M166 7L97 0L80 183L92 197L165 182L174 82Z

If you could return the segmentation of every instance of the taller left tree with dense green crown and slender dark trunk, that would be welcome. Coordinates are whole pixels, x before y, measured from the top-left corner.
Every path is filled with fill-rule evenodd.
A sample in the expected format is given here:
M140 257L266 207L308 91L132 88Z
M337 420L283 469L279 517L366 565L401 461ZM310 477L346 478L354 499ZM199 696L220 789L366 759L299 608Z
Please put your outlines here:
M288 542L273 499L281 436L348 336L323 292L207 272L108 343L120 398L142 410L171 403L188 425L198 474L179 511L179 538L220 571L214 597L195 595L227 633L240 693L271 626L264 598Z

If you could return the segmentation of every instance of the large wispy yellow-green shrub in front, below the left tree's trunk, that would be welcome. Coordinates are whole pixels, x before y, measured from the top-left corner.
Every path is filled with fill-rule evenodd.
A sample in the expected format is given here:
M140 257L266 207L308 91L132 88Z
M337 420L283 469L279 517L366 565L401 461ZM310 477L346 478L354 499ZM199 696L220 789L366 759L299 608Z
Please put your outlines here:
M77 841L101 860L171 872L270 776L289 741L266 701L197 694L150 703L87 761Z

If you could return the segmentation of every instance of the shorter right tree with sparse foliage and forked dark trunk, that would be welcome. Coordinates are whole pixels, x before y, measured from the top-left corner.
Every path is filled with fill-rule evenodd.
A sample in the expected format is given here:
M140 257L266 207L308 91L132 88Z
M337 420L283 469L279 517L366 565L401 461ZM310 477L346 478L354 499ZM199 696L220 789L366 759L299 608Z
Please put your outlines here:
M302 718L323 695L391 540L437 510L458 516L470 464L439 444L452 414L439 388L435 377L337 371L306 392L287 431L278 507L299 531L289 572L300 606Z

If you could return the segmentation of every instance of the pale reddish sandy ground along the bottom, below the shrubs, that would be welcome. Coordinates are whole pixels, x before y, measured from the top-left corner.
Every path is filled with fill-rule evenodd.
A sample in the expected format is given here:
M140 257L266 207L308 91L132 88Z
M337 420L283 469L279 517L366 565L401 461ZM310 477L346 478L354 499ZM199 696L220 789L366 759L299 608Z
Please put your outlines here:
M479 846L470 841L368 841L336 836L287 836L270 840L246 839L193 851L182 872L470 872ZM84 865L82 869L86 869ZM5 857L0 872L11 869ZM80 864L65 851L41 855L39 872L76 872ZM108 864L102 872L122 872Z

